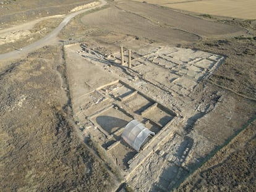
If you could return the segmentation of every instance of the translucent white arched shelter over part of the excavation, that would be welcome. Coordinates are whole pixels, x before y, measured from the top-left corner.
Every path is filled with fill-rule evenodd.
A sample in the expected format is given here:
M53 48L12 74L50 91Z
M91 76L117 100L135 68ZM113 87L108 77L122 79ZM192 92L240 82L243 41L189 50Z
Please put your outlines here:
M144 125L137 120L130 121L122 132L122 138L136 151L140 150L140 146L149 135L155 135L154 132L148 130Z

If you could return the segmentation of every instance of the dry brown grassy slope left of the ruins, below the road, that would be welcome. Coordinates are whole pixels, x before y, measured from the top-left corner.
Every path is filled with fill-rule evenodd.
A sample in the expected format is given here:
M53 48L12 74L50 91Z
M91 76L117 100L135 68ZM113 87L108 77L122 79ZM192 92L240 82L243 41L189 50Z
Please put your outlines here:
M112 187L66 120L65 75L61 48L54 46L1 70L0 191Z

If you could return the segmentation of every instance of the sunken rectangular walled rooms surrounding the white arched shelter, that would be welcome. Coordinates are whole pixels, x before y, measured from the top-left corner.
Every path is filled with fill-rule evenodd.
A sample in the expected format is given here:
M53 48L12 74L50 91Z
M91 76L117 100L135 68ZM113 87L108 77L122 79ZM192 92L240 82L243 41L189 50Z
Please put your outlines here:
M113 81L84 98L87 98L83 104L83 108L86 109L84 112L88 114L88 119L92 121L93 125L98 127L94 130L95 138L105 151L106 156L113 159L118 170L130 170L128 162L138 154L121 138L124 127L134 119L135 114L145 123L145 127L155 132L156 135L165 130L164 126L169 127L169 123L176 116L166 107L123 81ZM101 98L106 99L101 101ZM97 131L98 133L96 133ZM98 136L97 134L100 133L101 136ZM148 147L151 146L154 137L151 140L149 137L144 142L145 145L141 146L143 157L144 153L150 150Z

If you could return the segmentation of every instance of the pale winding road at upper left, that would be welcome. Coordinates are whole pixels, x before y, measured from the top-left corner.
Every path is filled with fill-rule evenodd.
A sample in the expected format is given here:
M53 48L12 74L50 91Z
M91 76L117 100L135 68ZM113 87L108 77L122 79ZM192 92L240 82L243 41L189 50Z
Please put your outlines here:
M102 7L105 6L107 3L105 0L100 0L101 4L96 7ZM39 41L36 41L35 43L29 44L28 46L25 46L22 48L22 50L15 50L11 52L7 52L6 54L0 54L0 61L4 61L7 59L17 59L22 55L28 54L28 52L31 52L35 49L42 48L43 46L46 46L47 44L52 44L56 41L56 37L58 36L59 32L64 28L69 21L74 18L76 15L82 14L84 12L87 12L89 10L95 9L96 7L91 7L88 9L79 10L77 12L74 12L72 14L69 14L65 17L65 19L59 24L57 28L55 28L51 33L46 35L44 38L42 38Z

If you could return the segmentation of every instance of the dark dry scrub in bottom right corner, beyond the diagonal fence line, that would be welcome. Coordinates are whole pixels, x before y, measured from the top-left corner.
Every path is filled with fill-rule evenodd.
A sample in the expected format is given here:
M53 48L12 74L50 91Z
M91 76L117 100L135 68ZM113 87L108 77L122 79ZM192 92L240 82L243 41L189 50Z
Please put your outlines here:
M254 191L255 141L254 120L174 191Z

